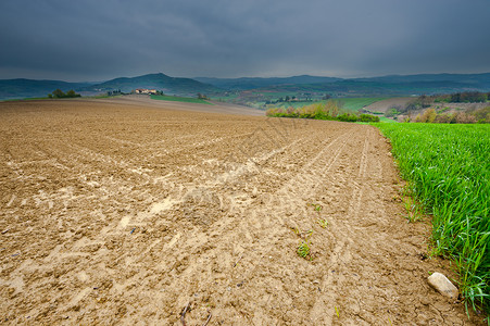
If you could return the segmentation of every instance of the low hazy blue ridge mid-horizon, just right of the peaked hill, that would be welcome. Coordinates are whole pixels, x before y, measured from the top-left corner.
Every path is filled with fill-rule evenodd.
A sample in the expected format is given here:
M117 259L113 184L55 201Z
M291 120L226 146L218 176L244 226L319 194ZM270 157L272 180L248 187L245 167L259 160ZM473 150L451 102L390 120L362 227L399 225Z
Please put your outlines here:
M319 76L292 76L292 77L241 77L241 78L209 78L196 77L196 80L214 85L219 88L228 90L249 90L255 88L263 88L269 86L280 85L300 85L300 84L319 84L319 83L335 83L342 80L335 77L319 77Z

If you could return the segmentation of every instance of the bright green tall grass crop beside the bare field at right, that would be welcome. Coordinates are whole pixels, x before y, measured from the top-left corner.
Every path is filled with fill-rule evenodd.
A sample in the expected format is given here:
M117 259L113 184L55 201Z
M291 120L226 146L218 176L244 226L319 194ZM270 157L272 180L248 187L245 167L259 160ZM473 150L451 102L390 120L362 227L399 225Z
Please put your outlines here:
M432 253L456 262L466 306L490 313L490 125L375 125L434 215Z

